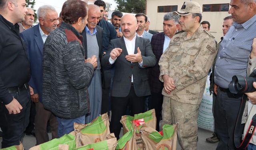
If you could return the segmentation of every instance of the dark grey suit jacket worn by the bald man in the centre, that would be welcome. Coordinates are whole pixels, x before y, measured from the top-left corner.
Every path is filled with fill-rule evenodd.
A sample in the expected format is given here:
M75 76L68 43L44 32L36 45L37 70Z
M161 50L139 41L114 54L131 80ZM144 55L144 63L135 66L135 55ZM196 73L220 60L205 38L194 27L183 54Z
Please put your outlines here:
M131 63L126 60L125 56L128 55L124 37L110 41L108 53L102 58L102 67L104 69L110 68L112 65L109 63L110 52L113 48L121 48L122 53L116 58L115 72L113 77L113 85L111 96L126 97L128 96L131 88L131 80L133 76L134 91L136 96L150 95L150 88L148 83L147 67L156 64L156 57L152 52L151 45L148 39L136 37L134 54L137 54L137 48L140 48L143 64Z

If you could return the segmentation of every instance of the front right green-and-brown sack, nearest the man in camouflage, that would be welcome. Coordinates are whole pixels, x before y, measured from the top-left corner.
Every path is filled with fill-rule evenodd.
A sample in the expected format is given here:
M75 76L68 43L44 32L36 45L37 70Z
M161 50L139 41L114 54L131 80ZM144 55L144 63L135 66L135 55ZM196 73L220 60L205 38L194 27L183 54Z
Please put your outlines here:
M177 129L178 124L165 124L159 133L153 128L142 126L140 132L146 150L176 150Z

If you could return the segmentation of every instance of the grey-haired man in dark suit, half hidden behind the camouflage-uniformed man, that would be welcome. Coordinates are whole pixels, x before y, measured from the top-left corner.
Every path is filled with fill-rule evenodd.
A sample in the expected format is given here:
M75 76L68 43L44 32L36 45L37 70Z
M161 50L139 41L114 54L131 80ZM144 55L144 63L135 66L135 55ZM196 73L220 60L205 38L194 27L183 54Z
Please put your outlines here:
M156 65L149 69L148 74L151 90L151 96L148 101L148 109L155 109L156 111L156 130L158 131L163 104L162 89L164 87L163 82L160 82L159 80L160 69L158 62L163 52L166 50L166 48L168 48L172 36L174 36L180 27L179 18L179 15L173 14L172 12L165 14L163 22L164 32L153 35L151 39L152 51L156 56Z

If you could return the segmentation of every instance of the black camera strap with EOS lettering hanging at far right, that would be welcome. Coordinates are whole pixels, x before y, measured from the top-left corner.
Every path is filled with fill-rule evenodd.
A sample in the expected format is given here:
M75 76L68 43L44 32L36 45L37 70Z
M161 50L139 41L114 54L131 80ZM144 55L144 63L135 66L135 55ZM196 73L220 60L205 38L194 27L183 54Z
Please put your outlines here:
M246 135L244 136L244 140L241 142L241 131L242 132L244 131L244 126L241 124L241 122L242 122L242 116L244 113L246 101L247 101L247 95L244 94L242 96L242 102L240 104L240 109L238 112L238 117L236 120L236 126L234 130L234 143L236 148L238 149L245 149L248 146L256 128L256 114L255 114L252 117L252 121L249 124L249 128L247 129Z

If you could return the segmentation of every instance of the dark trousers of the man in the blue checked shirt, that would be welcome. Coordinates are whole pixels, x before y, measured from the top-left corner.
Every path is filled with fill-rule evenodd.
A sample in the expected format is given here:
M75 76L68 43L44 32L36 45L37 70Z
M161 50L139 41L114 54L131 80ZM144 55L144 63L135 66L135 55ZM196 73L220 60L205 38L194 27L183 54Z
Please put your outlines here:
M215 131L220 138L216 150L236 150L234 145L234 128L242 97L234 97L230 92L218 88L214 108ZM241 139L242 139L241 131Z

